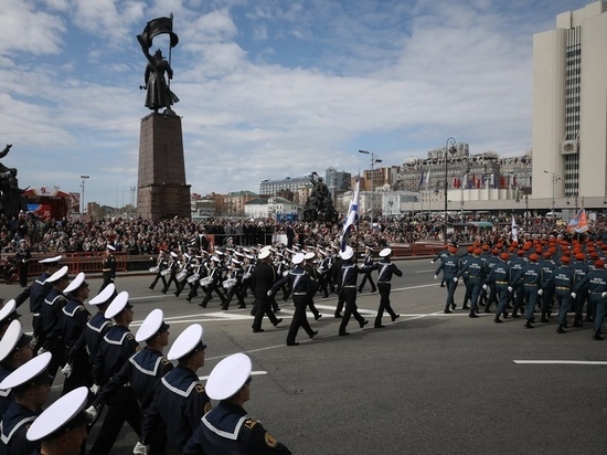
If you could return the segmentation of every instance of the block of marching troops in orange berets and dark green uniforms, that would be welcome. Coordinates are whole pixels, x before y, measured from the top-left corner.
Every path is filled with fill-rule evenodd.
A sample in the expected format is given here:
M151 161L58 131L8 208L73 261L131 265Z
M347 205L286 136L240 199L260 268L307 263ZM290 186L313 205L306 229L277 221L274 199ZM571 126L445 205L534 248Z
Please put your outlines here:
M524 327L549 324L556 315L556 332L566 334L589 324L592 338L603 340L601 326L607 310L607 243L592 240L556 239L498 240L493 245L475 243L465 254L446 245L432 262L440 261L435 279L443 273L447 289L444 313L456 309L455 292L461 279L466 292L462 309L477 318L480 307L502 317L524 317ZM493 305L494 304L494 305Z

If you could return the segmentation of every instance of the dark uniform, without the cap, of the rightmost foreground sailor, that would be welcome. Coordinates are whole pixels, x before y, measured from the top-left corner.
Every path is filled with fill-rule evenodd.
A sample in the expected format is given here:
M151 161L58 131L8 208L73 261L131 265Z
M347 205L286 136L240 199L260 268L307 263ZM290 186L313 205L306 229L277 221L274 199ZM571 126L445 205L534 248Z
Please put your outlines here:
M269 434L262 422L251 419L235 404L221 401L202 422L183 449L183 455L200 454L280 454L291 452Z

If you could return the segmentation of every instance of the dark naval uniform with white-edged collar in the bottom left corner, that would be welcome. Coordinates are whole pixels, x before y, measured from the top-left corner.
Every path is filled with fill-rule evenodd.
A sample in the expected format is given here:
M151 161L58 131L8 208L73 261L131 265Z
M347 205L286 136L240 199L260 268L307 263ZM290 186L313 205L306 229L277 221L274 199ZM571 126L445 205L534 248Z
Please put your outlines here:
M28 441L25 433L41 413L40 408L32 412L23 404L12 402L2 416L0 455L31 455L40 447L40 441Z

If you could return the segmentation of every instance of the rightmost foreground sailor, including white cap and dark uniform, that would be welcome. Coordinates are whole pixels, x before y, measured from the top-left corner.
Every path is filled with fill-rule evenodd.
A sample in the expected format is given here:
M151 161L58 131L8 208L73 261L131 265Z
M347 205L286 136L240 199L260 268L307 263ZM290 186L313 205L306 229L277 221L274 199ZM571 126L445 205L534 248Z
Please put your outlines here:
M226 357L215 366L206 381L206 393L220 403L204 414L184 455L291 453L243 408L251 400L251 359L244 353Z

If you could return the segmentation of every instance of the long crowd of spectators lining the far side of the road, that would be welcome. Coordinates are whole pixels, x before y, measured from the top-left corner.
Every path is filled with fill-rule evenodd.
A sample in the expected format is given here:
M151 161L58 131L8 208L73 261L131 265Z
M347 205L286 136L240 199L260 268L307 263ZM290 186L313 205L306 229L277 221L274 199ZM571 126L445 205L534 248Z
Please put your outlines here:
M508 236L512 215L465 216L449 220L454 228L450 236L458 243L490 241ZM487 226L473 226L471 222L489 222ZM520 235L569 235L566 223L552 218L515 218ZM291 222L296 242L308 245L329 245L341 234L342 224ZM284 234L286 223L271 219L209 219L191 221L171 219L151 221L142 219L98 220L41 220L31 213L18 218L0 216L0 252L14 253L19 240L25 239L32 253L61 254L75 252L103 252L107 243L129 255L156 254L161 248L187 251L188 243L199 233L213 235L215 245L223 245L228 237L237 245L269 244L275 234ZM589 222L590 235L600 237L607 232L607 219L598 216ZM380 219L371 225L369 220L359 221L358 235L352 242L382 248L386 245L411 244L418 241L444 241L444 223L440 215L429 219L416 215Z

